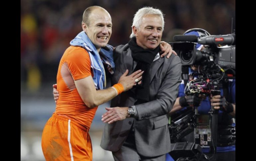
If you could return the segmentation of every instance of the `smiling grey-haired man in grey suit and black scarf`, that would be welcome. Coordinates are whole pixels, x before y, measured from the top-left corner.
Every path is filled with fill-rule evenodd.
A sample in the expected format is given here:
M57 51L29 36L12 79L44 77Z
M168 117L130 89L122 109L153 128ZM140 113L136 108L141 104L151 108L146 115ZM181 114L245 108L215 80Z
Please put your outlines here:
M164 30L163 13L144 7L133 19L131 40L114 50L116 71L111 83L122 73L141 69L142 84L111 101L102 121L107 122L101 147L112 151L117 161L160 161L171 151L168 119L181 83L181 60L172 54L160 57ZM136 81L136 80L135 80Z

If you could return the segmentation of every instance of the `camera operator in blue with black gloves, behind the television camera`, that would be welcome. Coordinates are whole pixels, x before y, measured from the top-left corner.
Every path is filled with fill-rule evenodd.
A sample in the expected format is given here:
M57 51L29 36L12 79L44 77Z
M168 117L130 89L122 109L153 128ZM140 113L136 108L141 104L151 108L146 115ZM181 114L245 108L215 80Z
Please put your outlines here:
M196 35L197 37L208 36L208 32L200 32L190 30L189 32L185 32L184 35ZM204 48L203 45L197 43L196 49L202 50ZM200 68L200 66L199 66ZM200 70L200 69L199 69ZM198 77L198 65L192 65L189 68L189 81L194 80ZM179 88L178 98L173 106L173 109L169 113L172 115L172 119L174 117L173 114L179 115L187 108L198 107L198 114L208 114L211 109L211 106L214 107L215 110L219 110L218 112L218 141L217 141L217 149L216 154L214 156L216 161L235 161L235 145L232 143L227 143L227 139L223 139L220 137L220 134L223 134L223 131L227 131L227 127L235 128L234 119L235 118L235 80L228 79L226 81L222 81L220 87L220 95L209 97L204 97L203 95L190 95L187 96L184 92L187 82L182 80ZM193 132L191 133L193 135ZM189 134L190 135L190 134ZM187 135L188 136L188 135ZM184 137L185 141L194 142L194 136ZM235 143L234 143L235 144ZM210 152L210 148L202 146L202 152L210 158L213 154ZM168 157L167 157L168 158ZM214 159L212 158L212 159ZM172 159L169 157L168 161Z

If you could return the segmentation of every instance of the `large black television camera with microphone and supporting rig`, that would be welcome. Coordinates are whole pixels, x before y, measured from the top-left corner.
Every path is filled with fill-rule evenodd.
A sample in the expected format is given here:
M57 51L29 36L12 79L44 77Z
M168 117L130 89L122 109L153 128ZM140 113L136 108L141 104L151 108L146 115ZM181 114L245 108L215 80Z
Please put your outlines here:
M186 35L193 31L199 36ZM171 44L181 58L186 95L220 95L223 81L235 79L235 34L210 35L203 29L194 28L186 31L185 35L174 36L174 40L178 42ZM197 68L197 79L189 80L188 67ZM197 108L194 108L176 117L169 125L171 156L184 161L211 160L212 157L202 154L201 146L210 147L214 154L217 140L222 142L218 146L235 144L235 127L227 126L217 133L217 122L218 110L213 107L209 115L198 115ZM193 131L194 142L181 142Z

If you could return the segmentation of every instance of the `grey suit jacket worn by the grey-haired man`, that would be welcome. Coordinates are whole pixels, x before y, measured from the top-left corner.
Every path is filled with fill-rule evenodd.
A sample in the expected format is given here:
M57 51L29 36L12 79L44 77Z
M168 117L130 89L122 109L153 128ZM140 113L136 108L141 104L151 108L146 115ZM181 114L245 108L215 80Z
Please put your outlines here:
M119 45L114 51L116 70L111 84L116 84L120 76L129 69L132 73L136 66L131 49ZM109 151L117 151L123 145L132 123L137 152L153 157L171 151L171 141L166 114L171 111L181 83L181 60L172 54L169 59L159 58L150 66L150 102L136 105L138 119L127 118L112 124L105 124L100 146ZM111 101L111 107L133 106L136 101L131 91L123 92Z

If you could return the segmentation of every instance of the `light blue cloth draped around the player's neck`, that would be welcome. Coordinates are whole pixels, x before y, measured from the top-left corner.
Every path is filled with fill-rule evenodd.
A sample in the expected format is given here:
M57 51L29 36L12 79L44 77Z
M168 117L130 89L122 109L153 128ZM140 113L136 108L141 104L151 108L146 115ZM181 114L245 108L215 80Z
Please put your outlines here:
M96 89L103 89L106 87L106 75L103 63L107 64L107 68L111 74L115 69L115 64L113 61L113 47L111 45L107 45L100 50L101 57L97 52L97 49L85 34L84 31L80 32L73 40L70 41L70 45L72 46L80 46L87 50L91 60L91 68L93 69L93 81ZM102 60L101 60L102 58ZM103 63L102 63L103 62Z

